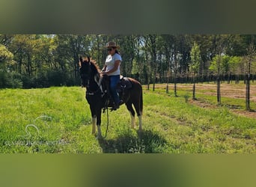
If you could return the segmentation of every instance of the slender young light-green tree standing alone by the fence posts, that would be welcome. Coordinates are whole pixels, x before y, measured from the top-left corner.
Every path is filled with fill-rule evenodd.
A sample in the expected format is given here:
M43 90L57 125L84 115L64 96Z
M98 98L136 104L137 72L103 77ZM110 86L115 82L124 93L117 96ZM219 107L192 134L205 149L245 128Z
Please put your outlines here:
M191 64L189 70L193 73L193 96L192 99L195 100L195 76L198 76L199 68L201 65L200 49L197 43L194 42L190 52Z

